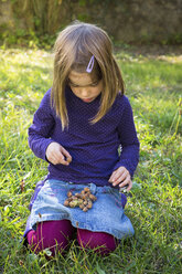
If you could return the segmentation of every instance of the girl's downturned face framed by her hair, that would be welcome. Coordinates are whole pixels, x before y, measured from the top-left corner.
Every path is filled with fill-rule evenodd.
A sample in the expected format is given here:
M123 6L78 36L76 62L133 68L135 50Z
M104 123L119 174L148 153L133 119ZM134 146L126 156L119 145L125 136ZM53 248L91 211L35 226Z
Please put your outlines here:
M103 91L103 80L92 80L88 73L71 71L68 85L72 92L85 103L93 102Z

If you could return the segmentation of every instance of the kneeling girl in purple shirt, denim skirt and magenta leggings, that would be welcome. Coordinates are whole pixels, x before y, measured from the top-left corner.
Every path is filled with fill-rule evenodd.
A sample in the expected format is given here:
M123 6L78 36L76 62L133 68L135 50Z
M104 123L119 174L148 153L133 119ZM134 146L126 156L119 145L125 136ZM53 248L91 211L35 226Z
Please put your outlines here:
M49 173L35 188L24 236L35 252L49 247L54 255L76 232L82 247L108 254L133 234L119 193L131 189L139 159L131 106L104 30L68 25L54 52L53 86L29 128L30 148L49 162ZM64 205L67 192L85 187L97 198L92 209Z

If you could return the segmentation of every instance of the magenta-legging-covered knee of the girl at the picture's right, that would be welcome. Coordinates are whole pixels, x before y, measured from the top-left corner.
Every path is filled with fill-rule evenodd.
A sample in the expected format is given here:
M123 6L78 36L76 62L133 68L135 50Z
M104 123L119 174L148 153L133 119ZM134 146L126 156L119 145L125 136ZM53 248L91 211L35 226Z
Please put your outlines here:
M105 232L92 232L88 230L77 230L78 244L84 249L95 249L101 255L107 255L117 247L116 239Z

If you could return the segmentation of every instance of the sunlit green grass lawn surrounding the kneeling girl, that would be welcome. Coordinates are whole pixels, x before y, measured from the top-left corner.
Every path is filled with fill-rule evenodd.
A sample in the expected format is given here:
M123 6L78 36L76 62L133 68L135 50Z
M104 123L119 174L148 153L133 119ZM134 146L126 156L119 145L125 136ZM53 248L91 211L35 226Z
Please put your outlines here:
M180 274L182 270L182 60L118 51L138 136L140 162L126 214L136 234L108 257L71 243L46 261L22 239L28 205L46 164L28 147L28 127L52 83L45 51L0 51L0 273ZM23 191L22 191L23 190Z

